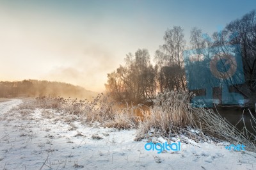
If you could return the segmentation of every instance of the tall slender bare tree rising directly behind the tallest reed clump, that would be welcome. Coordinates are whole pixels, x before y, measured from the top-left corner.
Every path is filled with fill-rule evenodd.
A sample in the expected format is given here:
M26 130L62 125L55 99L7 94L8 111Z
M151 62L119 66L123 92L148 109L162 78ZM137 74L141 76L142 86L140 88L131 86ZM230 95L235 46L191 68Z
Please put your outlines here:
M184 30L174 26L164 33L164 44L156 51L155 61L159 73L157 80L160 91L163 89L186 89L184 61L182 52L185 48Z

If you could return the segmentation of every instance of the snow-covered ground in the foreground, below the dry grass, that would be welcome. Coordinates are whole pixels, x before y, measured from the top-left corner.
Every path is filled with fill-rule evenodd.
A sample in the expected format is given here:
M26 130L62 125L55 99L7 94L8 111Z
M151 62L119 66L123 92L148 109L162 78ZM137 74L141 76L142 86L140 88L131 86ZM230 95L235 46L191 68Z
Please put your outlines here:
M180 151L157 154L145 150L146 139L134 141L136 130L84 125L76 116L65 121L67 115L52 110L12 109L21 103L0 103L0 169L256 169L255 153L229 151L225 143L188 140Z

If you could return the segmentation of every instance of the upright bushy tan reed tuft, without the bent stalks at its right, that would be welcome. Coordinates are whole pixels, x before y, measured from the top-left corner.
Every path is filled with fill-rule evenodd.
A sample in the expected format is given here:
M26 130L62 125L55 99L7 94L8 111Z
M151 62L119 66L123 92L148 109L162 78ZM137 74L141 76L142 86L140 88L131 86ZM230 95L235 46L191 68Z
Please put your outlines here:
M150 114L144 114L140 129L143 128L145 133L150 128L156 128L161 134L168 134L172 127L193 125L194 115L188 107L190 98L191 95L185 92L166 91L159 95L154 106L150 108Z

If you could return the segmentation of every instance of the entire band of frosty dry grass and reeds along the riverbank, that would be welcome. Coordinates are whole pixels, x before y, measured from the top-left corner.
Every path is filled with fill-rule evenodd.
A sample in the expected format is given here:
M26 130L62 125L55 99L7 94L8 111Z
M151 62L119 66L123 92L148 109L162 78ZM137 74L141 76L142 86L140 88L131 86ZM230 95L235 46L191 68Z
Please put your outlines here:
M212 109L190 107L189 101L192 97L191 93L184 91L165 91L157 97L154 105L148 107L147 111L141 109L143 105L119 107L102 94L94 98L92 102L61 97L39 97L32 105L35 108L54 109L69 115L65 116L65 121L70 122L72 129L74 128L72 121L99 122L100 125L109 128L138 129L136 141L152 137L152 135L170 139L177 134L186 134L197 142L216 140L234 144L243 143L247 150L256 151L254 134L246 128L242 133ZM143 119L136 114L137 111L140 111ZM51 113L44 112L44 114L51 116ZM253 116L252 120L255 121ZM198 133L191 133L190 129L196 129Z

